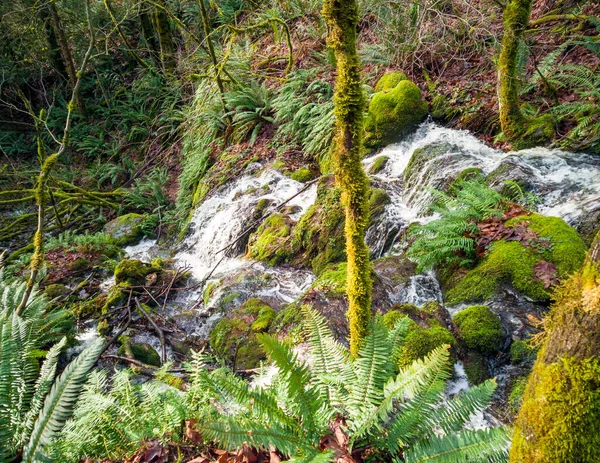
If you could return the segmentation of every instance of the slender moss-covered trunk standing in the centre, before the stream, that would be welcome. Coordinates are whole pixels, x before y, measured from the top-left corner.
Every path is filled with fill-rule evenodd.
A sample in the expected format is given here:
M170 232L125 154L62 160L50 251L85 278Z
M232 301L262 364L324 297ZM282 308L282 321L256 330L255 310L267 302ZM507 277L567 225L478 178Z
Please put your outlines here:
M365 97L356 52L356 26L360 16L356 0L325 0L323 16L328 26L327 42L335 52L337 62L333 158L346 215L350 350L356 355L371 316L373 285L369 248L365 243L369 180L361 164Z

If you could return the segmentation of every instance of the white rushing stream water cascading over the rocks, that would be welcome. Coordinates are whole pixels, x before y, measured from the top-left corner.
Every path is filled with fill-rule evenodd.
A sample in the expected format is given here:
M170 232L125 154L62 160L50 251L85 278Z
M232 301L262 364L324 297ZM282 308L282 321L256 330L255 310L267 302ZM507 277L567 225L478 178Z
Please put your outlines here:
M405 175L411 157L418 152L419 168ZM483 174L508 173L508 177L525 184L538 197L537 210L544 215L563 218L578 230L600 216L600 157L568 153L558 149L534 148L519 152L493 149L466 131L444 128L432 122L422 124L405 141L388 146L364 160L368 171L382 156L388 159L383 170L371 175L374 187L384 189L391 203L378 216L367 232L367 243L374 257L394 255L402 251L403 232L412 222L431 220L425 211L431 202L431 189L448 185L466 168L479 168ZM302 183L260 164L249 167L245 176L235 179L213 192L195 211L190 231L172 257L179 267L188 267L194 279L228 280L237 284L238 301L260 297L276 308L282 308L302 296L314 281L310 270L289 266L270 267L243 258L243 247L233 252L222 249L233 241L252 221L261 200L269 200L275 208L302 190ZM291 218L298 220L316 199L316 185L297 195L288 204ZM126 248L131 258L148 261L166 255L152 240L143 240ZM242 282L242 283L239 283ZM227 285L224 285L227 286ZM229 286L229 289L231 286ZM240 289L241 288L241 289ZM236 293L237 294L237 293ZM168 315L178 319L186 335L207 338L222 314L214 303L223 294L217 290L203 300L200 290L179 294L168 305ZM393 303L410 302L422 306L428 301L442 302L440 285L434 272L416 275L408 285L388 294ZM523 301L523 303L527 303ZM190 314L190 307L193 313ZM461 307L450 308L453 315ZM181 314L185 313L185 317ZM158 347L156 339L141 335L136 342ZM464 369L455 365L455 379L449 393L468 387ZM483 426L481 420L479 425Z

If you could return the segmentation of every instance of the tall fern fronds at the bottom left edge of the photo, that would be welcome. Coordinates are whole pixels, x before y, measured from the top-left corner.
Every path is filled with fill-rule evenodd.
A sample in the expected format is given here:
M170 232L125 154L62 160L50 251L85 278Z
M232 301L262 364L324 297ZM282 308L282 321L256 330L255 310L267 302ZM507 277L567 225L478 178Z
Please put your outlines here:
M94 342L56 378L69 315L47 311L47 299L35 289L22 316L17 315L25 286L8 282L0 273L2 461L13 461L21 452L19 461L47 461L48 447L69 418L82 383L103 347L101 340Z

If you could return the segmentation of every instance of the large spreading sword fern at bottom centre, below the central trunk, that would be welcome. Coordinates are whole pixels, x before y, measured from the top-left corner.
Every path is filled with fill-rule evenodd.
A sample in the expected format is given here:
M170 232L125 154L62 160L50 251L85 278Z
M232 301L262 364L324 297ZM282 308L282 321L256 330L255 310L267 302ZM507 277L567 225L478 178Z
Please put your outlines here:
M206 439L227 448L246 443L263 449L273 446L295 460L327 462L333 455L321 442L337 417L346 423L349 449L371 446L386 460L403 455L407 462L474 457L505 461L508 441L502 428L462 430L470 415L486 406L495 389L493 381L442 405L450 376L445 348L393 373L389 353L402 345L406 319L389 331L374 321L353 360L321 315L308 307L303 315L310 368L288 345L260 335L279 371L265 386L251 389L225 371L196 373L204 389L218 391L219 402L232 410L199 424ZM443 437L438 429L444 431Z

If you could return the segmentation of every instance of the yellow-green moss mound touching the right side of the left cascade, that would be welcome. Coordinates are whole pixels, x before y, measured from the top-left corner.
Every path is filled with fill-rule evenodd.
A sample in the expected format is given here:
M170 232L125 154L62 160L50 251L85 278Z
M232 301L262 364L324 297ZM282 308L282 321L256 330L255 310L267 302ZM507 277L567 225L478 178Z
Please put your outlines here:
M293 255L292 220L283 214L272 214L250 235L247 256L269 265L288 261Z

